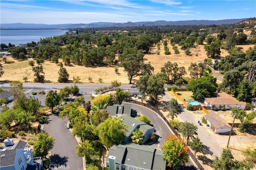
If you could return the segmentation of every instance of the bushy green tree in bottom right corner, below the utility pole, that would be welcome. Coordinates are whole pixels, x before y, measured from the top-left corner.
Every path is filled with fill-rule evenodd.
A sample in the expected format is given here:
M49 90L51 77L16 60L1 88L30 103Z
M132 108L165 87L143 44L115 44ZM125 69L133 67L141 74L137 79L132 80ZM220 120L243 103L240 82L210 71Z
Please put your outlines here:
M245 161L234 160L234 157L228 148L223 148L221 157L215 157L212 162L214 170L250 170L253 165Z

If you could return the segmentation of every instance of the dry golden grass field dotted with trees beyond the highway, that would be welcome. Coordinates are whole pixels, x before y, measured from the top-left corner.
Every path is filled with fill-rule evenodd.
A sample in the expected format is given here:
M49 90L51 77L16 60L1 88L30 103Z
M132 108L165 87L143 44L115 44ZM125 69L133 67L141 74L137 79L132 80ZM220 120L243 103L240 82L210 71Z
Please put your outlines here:
M162 43L161 43L162 44ZM242 47L242 51L246 51L249 47L253 47L254 45L238 45L239 47ZM165 55L164 54L164 46L160 45L160 55L155 54L156 53L156 46L153 46L150 49L150 54L146 54L144 56L145 63L151 63L154 67L155 71L154 73L159 73L161 67L163 67L164 63L167 61L170 61L172 63L177 62L179 67L184 66L186 68L186 71L188 73L188 67L190 66L190 63L198 63L199 61L204 61L204 59L207 58L206 51L204 49L203 45L199 45L197 48L190 49L191 54L186 55L184 53L184 50L180 49L180 46L178 46L178 49L180 51L180 54L174 54L174 50L172 49L172 46L170 45L170 42L168 42L168 47L170 49L171 54ZM228 52L221 49L221 56L225 57L228 55ZM4 74L1 77L1 81L13 81L13 80L19 80L23 81L22 78L24 76L28 77L28 82L33 82L34 80L34 72L32 71L32 67L28 65L28 62L32 60L32 58L29 58L26 61L18 61L15 59L12 59L12 57L7 57L8 61L12 60L15 61L15 63L11 64L5 64L3 65ZM61 59L59 60L61 62ZM46 82L50 83L57 83L58 80L58 70L59 66L55 63L51 63L50 61L45 61L42 63L45 73L45 80ZM114 69L116 67L84 67L79 65L73 65L73 66L64 66L68 73L69 73L69 79L70 82L73 80L73 76L79 75L81 78L82 83L89 83L88 77L92 77L93 83L98 83L98 79L102 78L102 83L111 83L113 80L118 80L122 84L128 84L128 77L127 73L124 72L124 69L122 67L118 68L119 75L117 75L114 72ZM186 75L189 77L188 75ZM138 79L136 77L135 79Z

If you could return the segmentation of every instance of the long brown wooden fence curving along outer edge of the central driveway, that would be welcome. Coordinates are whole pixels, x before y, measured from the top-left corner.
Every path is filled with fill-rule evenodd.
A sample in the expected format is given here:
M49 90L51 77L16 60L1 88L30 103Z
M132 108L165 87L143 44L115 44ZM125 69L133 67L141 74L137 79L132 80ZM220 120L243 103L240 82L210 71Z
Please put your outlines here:
M153 106L153 105L150 105L148 103L142 103L142 102L139 102L139 101L134 101L134 100L124 100L125 102L128 102L128 103L134 103L134 104L137 104L137 105L142 105L144 107L147 107L148 109L151 109L153 111L155 111L160 117L162 117L162 119L166 122L166 124L168 125L168 127L170 127L170 129L172 130L172 132L176 135L176 136L179 136L180 137L180 134L178 134L176 132L176 130L174 129L174 127L172 127L172 125L170 124L170 122L166 119L166 117L162 114L162 112L158 109L158 107L156 106ZM195 164L197 165L197 167L200 169L200 170L204 170L203 166L200 164L200 162L197 160L196 156L191 152L191 150L189 149L189 155L190 157L192 158L192 160L195 162Z

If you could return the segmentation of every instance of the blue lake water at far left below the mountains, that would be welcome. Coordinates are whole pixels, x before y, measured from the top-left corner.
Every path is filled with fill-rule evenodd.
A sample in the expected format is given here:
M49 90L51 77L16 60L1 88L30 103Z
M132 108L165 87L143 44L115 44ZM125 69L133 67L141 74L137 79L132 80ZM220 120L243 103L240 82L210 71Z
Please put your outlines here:
M60 36L68 30L0 30L0 43L18 46L29 42L38 42L40 38Z

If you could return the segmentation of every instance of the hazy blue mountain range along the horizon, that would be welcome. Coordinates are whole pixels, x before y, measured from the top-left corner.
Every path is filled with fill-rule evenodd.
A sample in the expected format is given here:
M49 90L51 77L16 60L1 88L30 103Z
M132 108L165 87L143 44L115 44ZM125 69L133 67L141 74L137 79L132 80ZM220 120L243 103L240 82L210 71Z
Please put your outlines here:
M154 22L95 22L90 24L0 24L0 29L68 29L68 28L100 28L128 26L163 26L163 25L222 25L236 24L247 18L229 20L187 20L187 21L154 21Z

